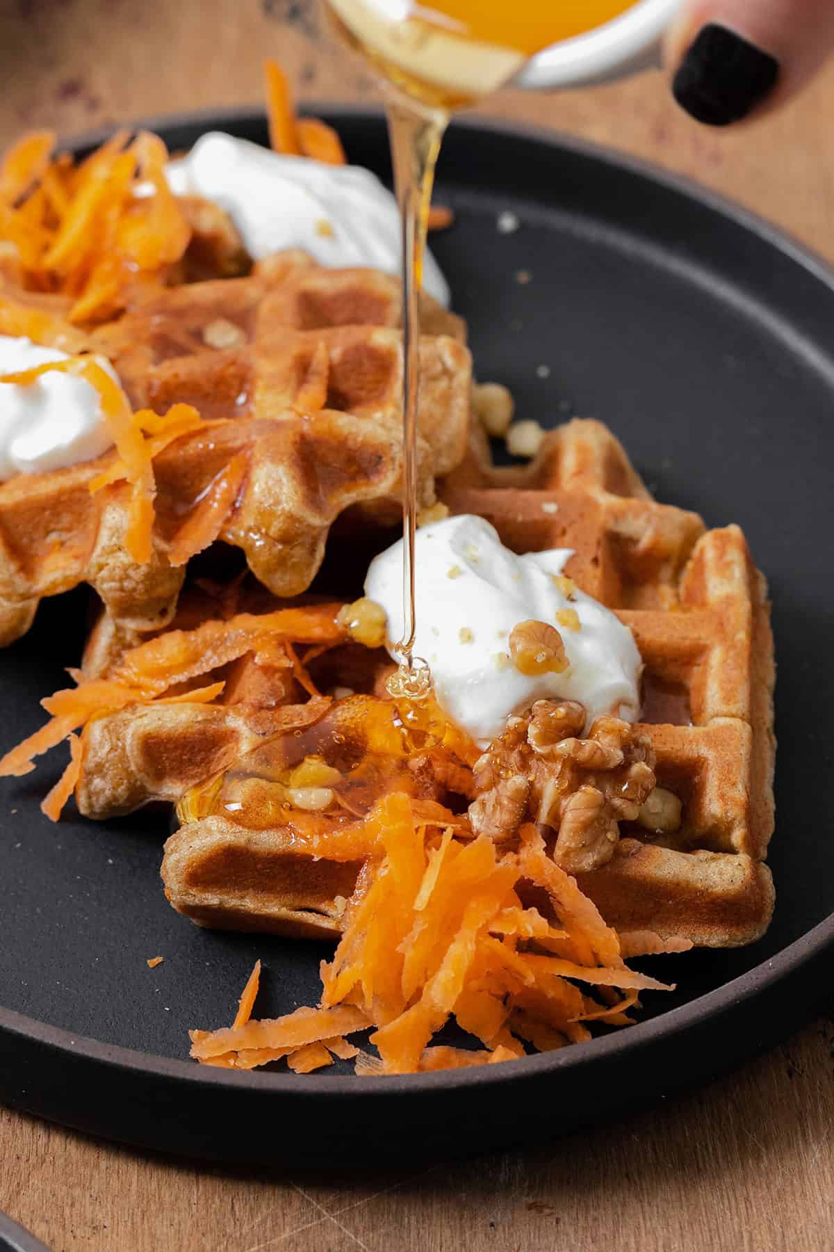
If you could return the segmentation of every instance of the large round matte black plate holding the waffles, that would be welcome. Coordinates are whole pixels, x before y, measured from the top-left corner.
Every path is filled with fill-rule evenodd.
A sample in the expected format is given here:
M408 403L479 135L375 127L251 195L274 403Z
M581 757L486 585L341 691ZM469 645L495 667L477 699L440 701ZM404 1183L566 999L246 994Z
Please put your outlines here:
M338 110L330 120L354 162L388 173L378 115ZM159 126L173 149L208 128L266 139L255 114ZM9 1104L225 1159L468 1152L665 1096L775 1040L818 1002L834 947L834 278L736 208L545 134L454 125L439 199L456 222L433 247L480 376L508 383L523 416L605 421L661 501L710 526L739 522L770 578L780 666L773 926L751 948L656 960L678 982L674 995L648 998L639 1025L559 1053L376 1082L205 1069L184 1059L186 1030L229 1020L254 959L266 967L259 1009L274 1015L315 1000L324 947L190 925L158 876L168 819L94 825L69 814L53 826L38 810L59 769L50 760L0 789ZM514 233L498 230L505 210L520 220ZM79 595L48 602L0 655L1 747L39 725L38 699L78 660L83 617ZM165 962L150 970L155 955Z

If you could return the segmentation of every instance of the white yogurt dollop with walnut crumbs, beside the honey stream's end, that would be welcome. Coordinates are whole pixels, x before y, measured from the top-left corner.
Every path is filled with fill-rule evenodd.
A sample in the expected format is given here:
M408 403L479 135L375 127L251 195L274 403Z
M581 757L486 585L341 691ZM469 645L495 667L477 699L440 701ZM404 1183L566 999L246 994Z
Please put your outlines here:
M569 550L516 556L494 526L464 515L421 527L415 541L415 656L431 667L440 706L485 745L510 714L533 700L579 700L588 729L603 714L635 721L640 712L641 660L631 631L584 592L570 598L560 575ZM388 613L388 637L403 635L403 541L375 557L365 595ZM573 610L579 630L559 622ZM561 635L569 669L529 677L509 657L509 635L534 618Z

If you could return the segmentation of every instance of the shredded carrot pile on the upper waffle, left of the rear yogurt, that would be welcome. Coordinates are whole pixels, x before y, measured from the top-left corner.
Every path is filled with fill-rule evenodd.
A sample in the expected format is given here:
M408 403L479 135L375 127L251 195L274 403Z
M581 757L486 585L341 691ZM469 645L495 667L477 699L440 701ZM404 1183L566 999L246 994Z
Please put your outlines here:
M15 249L19 285L69 297L71 323L101 322L138 289L166 283L191 228L158 135L130 141L120 130L79 164L54 148L51 133L36 131L3 160L0 239Z

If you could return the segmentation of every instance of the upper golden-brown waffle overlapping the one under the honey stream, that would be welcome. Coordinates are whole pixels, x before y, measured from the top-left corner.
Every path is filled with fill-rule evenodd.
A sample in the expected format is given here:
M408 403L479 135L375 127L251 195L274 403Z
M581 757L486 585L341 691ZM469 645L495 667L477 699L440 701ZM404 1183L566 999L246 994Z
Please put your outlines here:
M420 344L419 500L464 457L470 359L460 319L426 302ZM218 538L243 550L275 595L304 591L334 520L390 525L403 480L399 287L374 270L325 270L279 254L246 278L171 288L96 332L131 402L198 407L205 429L154 462L151 561L125 551L128 491L90 495L113 453L0 485L0 644L23 635L41 596L89 582L123 636L170 621L184 568L168 560L189 508L239 453L246 472ZM451 333L449 333L451 332ZM218 424L214 424L218 423Z

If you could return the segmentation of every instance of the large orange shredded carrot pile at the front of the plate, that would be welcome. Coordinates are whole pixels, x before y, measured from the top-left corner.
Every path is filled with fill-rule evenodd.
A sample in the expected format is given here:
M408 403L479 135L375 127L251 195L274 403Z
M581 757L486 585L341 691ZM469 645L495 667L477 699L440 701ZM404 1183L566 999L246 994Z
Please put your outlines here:
M395 793L366 828L376 851L321 965L319 1007L251 1020L248 987L245 1022L191 1032L198 1060L250 1069L286 1057L306 1073L348 1054L344 1035L371 1029L379 1057L356 1052L360 1074L494 1064L589 1039L590 1022L625 1025L640 990L670 990L626 968L616 933L535 826L501 853L425 821ZM550 919L524 903L531 889L546 893ZM431 1043L453 1018L480 1049Z

